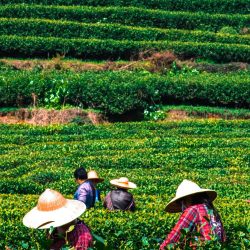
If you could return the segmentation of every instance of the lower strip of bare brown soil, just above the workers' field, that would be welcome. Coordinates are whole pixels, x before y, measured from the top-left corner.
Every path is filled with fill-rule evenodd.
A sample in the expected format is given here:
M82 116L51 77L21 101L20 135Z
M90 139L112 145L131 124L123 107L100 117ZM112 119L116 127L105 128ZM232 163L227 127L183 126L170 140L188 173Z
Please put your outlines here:
M183 121L190 119L235 119L233 116L223 116L213 113L188 113L184 110L170 110L166 112L165 121ZM249 119L246 117L245 119ZM52 125L52 124L104 124L109 122L131 122L143 121L143 114L131 112L121 116L105 117L101 113L83 111L81 109L47 110L47 109L26 109L21 108L15 111L0 112L0 124L31 124L31 125Z

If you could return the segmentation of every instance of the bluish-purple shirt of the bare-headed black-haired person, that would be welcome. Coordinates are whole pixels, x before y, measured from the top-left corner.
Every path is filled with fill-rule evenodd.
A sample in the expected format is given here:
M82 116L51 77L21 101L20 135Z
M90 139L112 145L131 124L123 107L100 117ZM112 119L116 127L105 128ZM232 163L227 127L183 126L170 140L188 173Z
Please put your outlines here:
M79 185L74 195L75 200L82 201L87 208L94 207L95 204L95 188L90 181L85 181Z

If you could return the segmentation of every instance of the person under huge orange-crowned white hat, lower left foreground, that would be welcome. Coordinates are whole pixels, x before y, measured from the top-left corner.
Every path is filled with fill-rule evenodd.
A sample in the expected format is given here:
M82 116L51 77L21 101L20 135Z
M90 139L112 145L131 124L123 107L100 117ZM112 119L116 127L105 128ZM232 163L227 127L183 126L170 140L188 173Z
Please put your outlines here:
M84 222L77 219L85 210L83 202L65 199L61 193L46 189L37 206L24 216L23 224L36 229L54 228L48 234L50 250L59 250L65 244L87 250L92 246L92 235Z

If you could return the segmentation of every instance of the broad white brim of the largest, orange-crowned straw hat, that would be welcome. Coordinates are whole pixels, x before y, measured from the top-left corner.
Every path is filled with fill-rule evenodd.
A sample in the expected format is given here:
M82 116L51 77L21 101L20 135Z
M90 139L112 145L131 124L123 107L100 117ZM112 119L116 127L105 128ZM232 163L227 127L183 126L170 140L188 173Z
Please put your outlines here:
M26 227L46 229L65 225L80 217L86 210L86 205L78 200L68 200L67 203L53 211L41 211L34 207L23 218Z

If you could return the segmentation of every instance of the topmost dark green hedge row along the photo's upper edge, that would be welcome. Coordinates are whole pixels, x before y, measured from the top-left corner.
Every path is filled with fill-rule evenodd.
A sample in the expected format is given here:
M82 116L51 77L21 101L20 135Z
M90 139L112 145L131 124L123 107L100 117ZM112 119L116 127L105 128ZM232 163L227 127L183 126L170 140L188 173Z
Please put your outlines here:
M249 14L248 0L1 0L2 4L135 6L171 11Z

